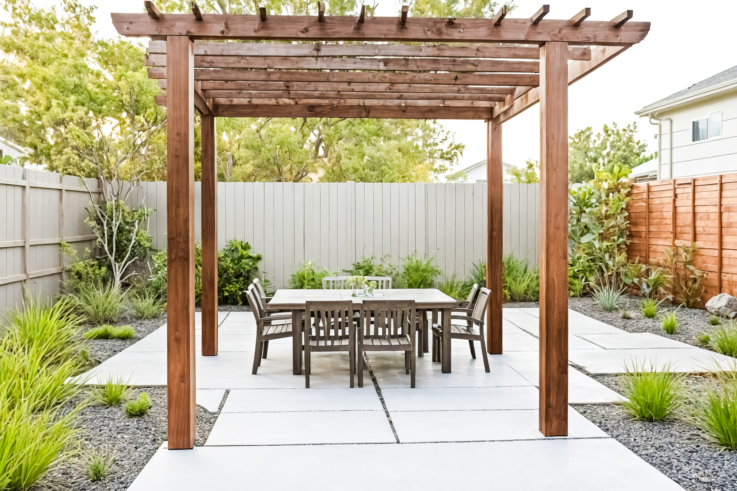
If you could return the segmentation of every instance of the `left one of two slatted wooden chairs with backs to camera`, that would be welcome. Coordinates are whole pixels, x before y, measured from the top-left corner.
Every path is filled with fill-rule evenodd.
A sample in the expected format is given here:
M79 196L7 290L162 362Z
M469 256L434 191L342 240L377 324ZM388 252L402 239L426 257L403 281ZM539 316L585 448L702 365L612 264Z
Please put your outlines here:
M353 303L307 302L304 305L304 386L310 388L310 355L312 352L347 351L351 387L356 364L356 327Z

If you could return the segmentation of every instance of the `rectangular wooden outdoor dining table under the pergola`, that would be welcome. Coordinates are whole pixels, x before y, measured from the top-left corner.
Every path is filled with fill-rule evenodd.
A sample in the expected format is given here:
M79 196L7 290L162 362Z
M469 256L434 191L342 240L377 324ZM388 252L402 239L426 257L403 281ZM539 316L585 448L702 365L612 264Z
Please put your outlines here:
M360 309L363 300L414 300L416 310L422 315L423 322L426 322L427 311L438 311L441 319L443 331L443 345L447 349L443 350L443 358L441 360L442 372L450 373L450 309L458 306L458 301L453 297L441 292L439 289L427 288L401 288L388 290L375 290L373 297L364 297L363 295L353 296L356 290L301 290L301 289L281 289L276 293L268 303L269 309L290 310L292 311L292 365L293 373L299 375L302 369L302 341L300 325L301 316L304 312L307 302L329 302L329 301L345 301L351 300L355 310ZM430 336L428 329L427 336ZM422 353L423 347L419 347ZM421 355L422 356L422 355Z

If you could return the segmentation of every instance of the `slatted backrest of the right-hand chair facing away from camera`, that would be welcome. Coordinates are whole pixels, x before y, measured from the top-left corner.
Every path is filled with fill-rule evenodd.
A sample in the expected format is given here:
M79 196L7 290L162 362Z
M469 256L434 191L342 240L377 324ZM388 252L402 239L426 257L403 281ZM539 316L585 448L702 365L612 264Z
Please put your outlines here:
M414 300L363 300L361 305L360 329L364 338L413 336L416 322Z

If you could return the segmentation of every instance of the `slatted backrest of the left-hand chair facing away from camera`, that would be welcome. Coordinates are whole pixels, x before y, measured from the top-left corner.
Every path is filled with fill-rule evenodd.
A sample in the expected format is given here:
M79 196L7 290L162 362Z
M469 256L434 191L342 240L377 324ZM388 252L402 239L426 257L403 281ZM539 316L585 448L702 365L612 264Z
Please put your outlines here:
M353 303L307 302L304 305L305 333L312 341L325 344L351 337L353 332Z

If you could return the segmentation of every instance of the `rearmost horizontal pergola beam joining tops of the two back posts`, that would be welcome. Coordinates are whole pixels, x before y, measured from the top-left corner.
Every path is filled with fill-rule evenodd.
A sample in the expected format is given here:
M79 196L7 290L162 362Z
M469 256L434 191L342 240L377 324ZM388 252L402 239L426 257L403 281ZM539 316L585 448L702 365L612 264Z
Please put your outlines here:
M411 107L214 105L215 116L233 118L398 118L398 119L489 119L489 107Z

